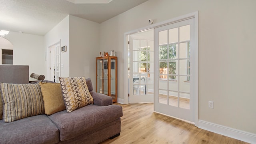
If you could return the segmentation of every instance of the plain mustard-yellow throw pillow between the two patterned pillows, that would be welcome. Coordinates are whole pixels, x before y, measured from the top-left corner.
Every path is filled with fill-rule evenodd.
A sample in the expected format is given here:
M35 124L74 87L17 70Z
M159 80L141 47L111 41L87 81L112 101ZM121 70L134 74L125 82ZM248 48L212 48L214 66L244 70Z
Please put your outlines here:
M51 115L66 109L60 83L40 82L39 84L44 99L45 114Z

